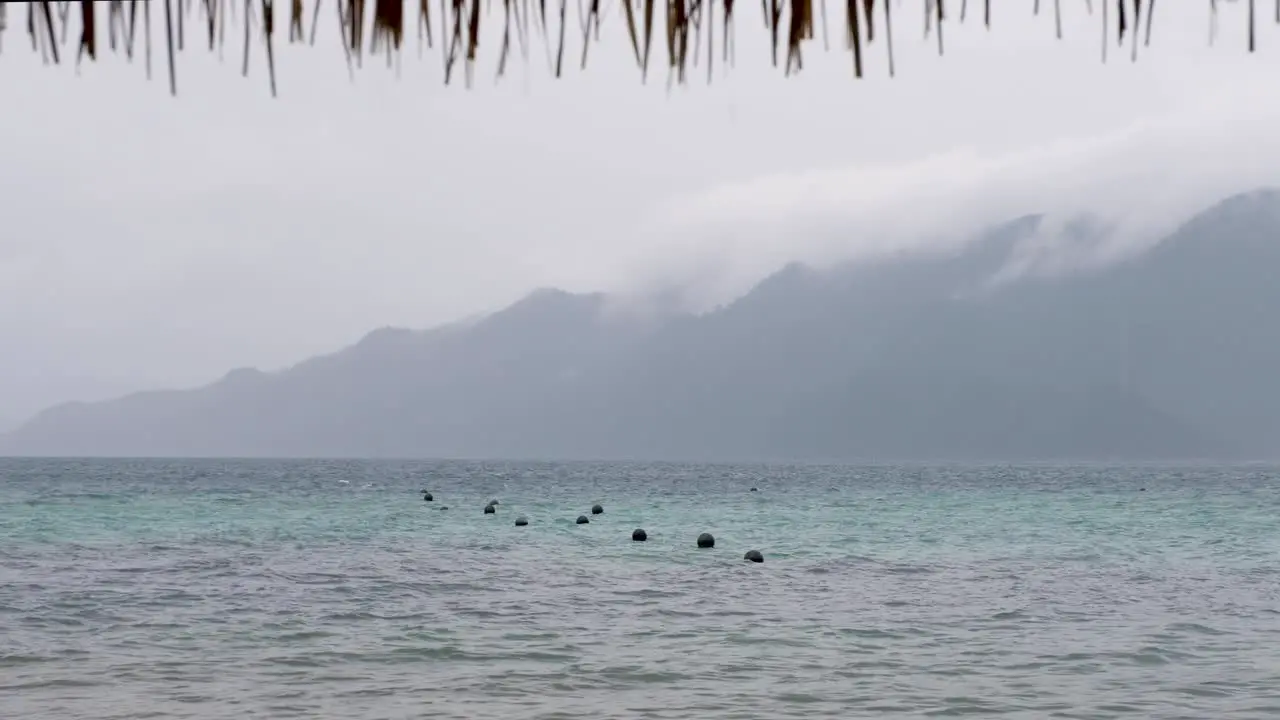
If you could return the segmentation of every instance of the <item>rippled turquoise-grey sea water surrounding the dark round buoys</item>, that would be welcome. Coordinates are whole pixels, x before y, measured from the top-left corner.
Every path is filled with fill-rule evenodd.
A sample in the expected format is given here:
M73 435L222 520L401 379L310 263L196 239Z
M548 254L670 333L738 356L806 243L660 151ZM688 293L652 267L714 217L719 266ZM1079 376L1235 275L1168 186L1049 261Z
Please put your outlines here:
M1272 469L0 460L0 717L1271 719L1277 647Z

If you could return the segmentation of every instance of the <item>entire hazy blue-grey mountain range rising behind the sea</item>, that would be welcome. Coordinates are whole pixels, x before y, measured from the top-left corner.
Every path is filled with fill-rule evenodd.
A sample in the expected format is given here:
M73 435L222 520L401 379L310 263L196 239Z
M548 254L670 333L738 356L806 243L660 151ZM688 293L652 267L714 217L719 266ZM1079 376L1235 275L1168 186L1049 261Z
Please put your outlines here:
M1280 197L1211 208L1126 263L992 286L1038 218L950 254L785 268L640 322L536 292L375 331L282 373L42 413L17 454L650 459L1270 456ZM1079 228L1089 242L1088 225Z

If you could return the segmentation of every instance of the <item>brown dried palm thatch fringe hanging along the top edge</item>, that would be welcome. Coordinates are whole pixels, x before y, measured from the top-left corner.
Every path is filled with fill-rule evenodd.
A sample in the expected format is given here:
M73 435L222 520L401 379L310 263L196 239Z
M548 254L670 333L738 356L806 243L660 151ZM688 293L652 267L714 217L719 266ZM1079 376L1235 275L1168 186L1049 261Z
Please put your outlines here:
M186 15L187 13L201 12L204 14L205 29L209 33L210 50L218 49L221 54L227 37L227 22L237 20L237 4L241 0L164 0L165 42L168 46L169 61L169 88L178 92L177 54L186 49ZM338 17L339 32L342 37L343 54L347 58L348 68L362 64L366 53L375 54L385 51L388 63L393 55L399 54L404 40L406 8L404 4L412 0L330 0L334 4ZM535 8L530 6L536 1ZM654 10L658 0L617 0L622 4L620 17L626 23L627 38L636 64L640 67L641 79L648 76L650 50L653 46ZM723 61L731 63L731 49L733 46L733 4L735 0L663 0L666 14L666 45L667 68L675 82L686 82L690 64L696 65L700 55L701 29L707 27L707 70L710 78L713 65L713 46L717 24L717 4L719 5L719 37ZM846 46L852 54L854 76L863 77L864 58L867 46L877 37L883 37L888 53L888 74L895 74L893 64L893 23L891 6L895 0L879 0L884 13L884 23L877 31L876 4L877 0L845 0L845 35ZM900 0L899 0L900 1ZM943 51L942 28L947 20L957 18L964 22L968 15L969 1L959 0L960 10L956 14L946 12L945 0L922 0L924 9L925 36L937 37L938 53ZM1192 0L1185 0L1192 1ZM1280 0L1275 3L1275 22L1280 23ZM310 38L303 29L303 19L307 14L307 4L311 4L311 33ZM315 45L316 24L320 19L320 5L324 0L289 0L289 42ZM485 8L493 3L485 0L440 0L436 20L431 20L430 0L417 0L417 33L419 51L421 41L433 45L433 27L440 28L440 45L444 61L444 81L452 78L454 63L462 56L465 59L466 76L470 81L472 69L479 54L481 3ZM815 3L818 6L815 8ZM1062 37L1062 0L1053 0L1053 23L1057 37ZM1092 0L1084 0L1088 10L1093 12ZM1132 41L1132 56L1138 58L1139 29L1144 37L1142 45L1151 44L1152 15L1156 12L1156 0L1100 0L1102 5L1102 59L1106 60L1108 37L1108 5L1115 3L1115 41L1123 45L1125 40ZM1210 38L1217 33L1217 3L1207 0L1210 5ZM255 4L257 5L255 8ZM991 0L982 0L983 23L991 28ZM1257 0L1247 0L1248 28L1247 41L1249 51L1254 51ZM0 3L0 49L4 47L4 32L9 29L8 10L17 3ZM109 47L123 51L131 60L133 58L134 42L138 38L138 15L142 15L142 40L146 46L147 77L151 77L151 3L148 0L110 0L108 3L95 3L81 0L79 13L72 13L73 3L59 3L56 12L54 3L49 0L26 3L27 5L27 33L31 37L33 51L41 54L46 64L59 64L65 54L59 54L59 49L65 45L68 28L73 23L79 23L79 49L77 63L86 56L90 60L99 59L97 44L97 13L106 9L106 29ZM527 59L526 41L531 37L529 23L532 19L541 36L550 41L552 32L548 29L547 0L500 0L503 12L503 35L499 50L498 74L503 74L507 68L507 58L511 50L511 31L515 28L522 55ZM760 0L764 12L764 26L771 38L771 51L773 64L778 65L780 51L783 55L783 72L791 74L803 68L801 49L814 38L814 18L820 17L823 24L823 45L827 37L827 8L824 0ZM1034 0L1033 13L1039 14L1041 0ZM559 0L558 8L559 26L554 28L554 41L547 44L548 60L552 63L556 77L563 72L564 40L568 24L568 0ZM593 41L599 41L600 23L607 14L602 0L577 0L577 13L580 29L582 33L581 65L586 67L588 47ZM366 22L372 15L372 31L366 31ZM275 0L243 0L243 13L239 14L243 23L244 50L243 74L248 74L250 46L253 44L255 26L261 31L261 41L266 54L268 77L270 79L271 94L275 94L275 51L273 46L275 32ZM1146 27L1142 24L1146 22ZM367 47L366 47L367 42ZM554 44L554 49L552 45ZM552 55L554 54L554 59ZM353 72L353 68L352 68Z

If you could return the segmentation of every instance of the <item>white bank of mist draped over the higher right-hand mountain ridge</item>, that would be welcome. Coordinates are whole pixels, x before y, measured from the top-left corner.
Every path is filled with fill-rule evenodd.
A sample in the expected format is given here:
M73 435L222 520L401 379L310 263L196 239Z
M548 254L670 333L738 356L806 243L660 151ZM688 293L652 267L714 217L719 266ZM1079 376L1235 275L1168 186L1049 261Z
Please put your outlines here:
M1263 73L1207 91L1193 77L1197 92L1170 110L1100 135L764 174L673 199L637 231L663 247L650 245L620 287L636 300L678 291L685 309L705 311L786 263L952 252L1027 214L1044 222L1006 278L1098 269L1148 250L1219 200L1280 187L1280 100L1249 90ZM1069 232L1079 222L1092 225L1087 249Z

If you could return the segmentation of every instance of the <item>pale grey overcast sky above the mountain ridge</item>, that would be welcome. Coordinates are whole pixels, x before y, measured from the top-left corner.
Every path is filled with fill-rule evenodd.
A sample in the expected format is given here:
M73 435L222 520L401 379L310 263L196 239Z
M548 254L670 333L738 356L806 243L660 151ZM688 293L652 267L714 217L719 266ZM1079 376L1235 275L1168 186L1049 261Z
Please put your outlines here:
M1138 61L1112 46L1103 65L1084 0L1062 1L1061 42L1051 12L997 0L991 33L948 23L942 59L916 5L895 12L893 81L879 41L869 78L852 79L837 4L831 50L819 28L785 79L748 4L736 67L709 86L705 68L669 92L662 72L641 85L617 8L585 72L550 78L535 45L494 82L495 10L471 90L444 87L439 47L419 60L412 33L398 77L370 61L351 82L323 22L319 47L280 47L276 100L260 46L241 77L238 40L224 64L188 47L172 99L163 22L150 82L105 51L45 69L14 8L0 427L51 402L285 366L541 286L692 283L694 301L716 302L788 260L1034 210L1108 215L1142 243L1224 193L1280 183L1270 6L1252 56L1244 3L1221 4L1215 47L1207 3L1161 3Z

